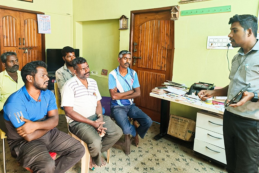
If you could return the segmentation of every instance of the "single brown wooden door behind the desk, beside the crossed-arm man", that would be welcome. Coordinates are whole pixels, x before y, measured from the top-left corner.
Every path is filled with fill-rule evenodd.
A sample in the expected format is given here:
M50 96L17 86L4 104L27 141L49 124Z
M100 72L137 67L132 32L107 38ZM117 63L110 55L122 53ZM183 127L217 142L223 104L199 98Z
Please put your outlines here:
M137 51L131 49L131 68L138 74L141 96L134 99L153 121L160 122L161 100L150 97L149 93L165 80L172 79L174 50L174 21L171 18L172 8L161 11L137 13L133 19L132 40L137 43ZM133 57L136 59L133 64Z

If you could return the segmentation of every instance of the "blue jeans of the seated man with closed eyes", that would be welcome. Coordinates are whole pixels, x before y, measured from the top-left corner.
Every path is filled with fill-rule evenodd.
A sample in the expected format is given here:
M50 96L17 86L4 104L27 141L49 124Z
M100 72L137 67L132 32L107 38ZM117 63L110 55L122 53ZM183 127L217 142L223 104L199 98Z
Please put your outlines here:
M122 129L125 135L131 134L133 137L136 136L136 131L141 138L144 138L147 130L152 125L153 121L147 114L142 112L141 109L135 106L135 104L128 106L116 106L111 108L112 117L116 120L118 126ZM140 124L137 129L135 126L130 124L128 116L138 121Z

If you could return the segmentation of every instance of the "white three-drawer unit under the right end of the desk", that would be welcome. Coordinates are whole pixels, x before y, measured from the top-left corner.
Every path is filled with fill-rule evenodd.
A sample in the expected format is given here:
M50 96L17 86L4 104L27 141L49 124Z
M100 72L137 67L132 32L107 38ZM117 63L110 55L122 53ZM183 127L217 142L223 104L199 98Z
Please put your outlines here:
M193 150L226 164L222 117L204 110L197 112Z

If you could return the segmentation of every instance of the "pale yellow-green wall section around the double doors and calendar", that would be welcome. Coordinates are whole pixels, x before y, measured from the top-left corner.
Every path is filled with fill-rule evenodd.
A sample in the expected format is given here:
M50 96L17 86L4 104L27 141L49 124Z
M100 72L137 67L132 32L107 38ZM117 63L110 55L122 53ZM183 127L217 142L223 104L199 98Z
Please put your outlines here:
M63 0L34 0L33 3L1 0L0 5L40 11L50 15L51 34L45 34L46 49L60 49L64 46L72 46L72 0L66 0L65 3Z

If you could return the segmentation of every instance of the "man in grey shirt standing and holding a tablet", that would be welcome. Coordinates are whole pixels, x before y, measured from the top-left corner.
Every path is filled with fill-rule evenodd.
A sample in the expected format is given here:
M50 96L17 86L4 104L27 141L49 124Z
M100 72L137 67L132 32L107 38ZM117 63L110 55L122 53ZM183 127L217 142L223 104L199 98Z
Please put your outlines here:
M218 90L198 93L204 101L213 96L226 96L230 101L248 83L251 85L237 103L226 107L223 134L228 172L258 173L259 166L259 42L257 17L235 15L229 20L230 41L241 47L232 60L230 84Z

